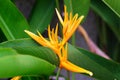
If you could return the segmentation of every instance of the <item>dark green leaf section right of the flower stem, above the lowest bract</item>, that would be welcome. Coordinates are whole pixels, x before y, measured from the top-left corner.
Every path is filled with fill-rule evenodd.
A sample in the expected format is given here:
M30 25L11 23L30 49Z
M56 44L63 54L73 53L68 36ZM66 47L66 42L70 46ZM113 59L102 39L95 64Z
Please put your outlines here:
M120 64L107 60L83 49L69 45L69 60L93 72L93 77L100 80L120 79Z

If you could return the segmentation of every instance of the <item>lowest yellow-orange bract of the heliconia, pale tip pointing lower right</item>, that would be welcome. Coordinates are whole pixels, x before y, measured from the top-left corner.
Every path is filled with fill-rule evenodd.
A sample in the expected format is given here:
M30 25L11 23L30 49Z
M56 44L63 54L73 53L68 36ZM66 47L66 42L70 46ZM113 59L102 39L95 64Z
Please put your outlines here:
M80 67L72 64L72 63L69 62L69 61L61 62L60 65L61 65L61 66L60 66L61 68L65 68L65 69L67 69L67 70L69 70L69 71L72 71L72 72L86 73L86 74L89 74L90 76L93 75L92 72L90 72L90 71L88 71L88 70L86 70L86 69L80 68Z

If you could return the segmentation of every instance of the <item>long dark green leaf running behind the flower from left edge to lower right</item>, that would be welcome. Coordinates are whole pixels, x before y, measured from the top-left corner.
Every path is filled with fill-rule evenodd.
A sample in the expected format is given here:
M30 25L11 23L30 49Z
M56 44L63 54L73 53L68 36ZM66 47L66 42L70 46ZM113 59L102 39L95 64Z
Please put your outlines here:
M34 41L31 42L31 39L8 41L8 42L1 43L0 46L11 47L11 48L16 49L18 52L22 52L22 53L25 52L24 50L26 47L29 47L29 49L27 49L27 51L25 52L25 54L27 55L34 56L34 54L38 52L39 54L36 54L36 55L38 56L44 55L44 58L45 58L45 57L48 57L47 55L51 54L49 55L49 58L50 59L54 58L55 60L57 60L56 56L52 57L52 55L55 55L55 54L51 52L50 49L46 49L45 47L38 46L38 44L36 44ZM39 50L34 49L33 46ZM21 49L17 49L20 47ZM33 53L32 49L35 52L34 54L31 54ZM86 68L92 71L94 74L93 75L94 78L97 78L100 80L114 80L114 79L119 80L120 79L120 64L119 63L116 63L112 60L104 59L100 56L97 56L83 49L76 49L72 45L69 45L68 49L69 49L68 60L70 60L72 63L80 67L83 67L83 68ZM44 54L40 53L41 51L43 51ZM51 63L52 61L49 61L49 62ZM59 61L57 61L57 63L59 63Z

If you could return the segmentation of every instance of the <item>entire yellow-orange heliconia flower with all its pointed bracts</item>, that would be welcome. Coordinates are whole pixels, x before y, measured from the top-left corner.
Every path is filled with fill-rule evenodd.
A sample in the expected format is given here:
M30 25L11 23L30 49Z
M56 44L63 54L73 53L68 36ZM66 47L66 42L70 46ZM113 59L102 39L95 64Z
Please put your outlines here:
M48 39L45 39L39 32L38 32L38 35L28 30L25 30L25 32L30 37L32 37L32 39L34 39L36 42L38 42L44 47L48 47L52 49L58 55L60 59L60 65L59 65L60 68L65 68L72 72L87 73L92 76L93 75L92 72L85 70L83 68L80 68L77 65L74 65L67 60L68 49L67 49L66 42L77 29L78 25L83 19L83 16L78 18L78 14L76 14L74 17L72 17L72 13L71 13L70 17L68 17L68 13L65 7L65 18L63 21L57 9L56 9L56 12L63 26L63 39L62 40L58 39L58 24L56 25L56 29L52 29L52 31L50 30L50 26L48 26Z

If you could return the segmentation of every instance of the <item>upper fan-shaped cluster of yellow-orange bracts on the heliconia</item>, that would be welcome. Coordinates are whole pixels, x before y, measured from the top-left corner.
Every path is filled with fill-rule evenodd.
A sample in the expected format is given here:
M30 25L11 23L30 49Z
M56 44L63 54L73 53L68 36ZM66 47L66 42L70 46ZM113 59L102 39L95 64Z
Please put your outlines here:
M78 17L78 14L75 14L75 16L72 16L72 13L70 13L70 16L69 16L66 6L64 6L64 20L62 19L57 9L56 9L56 13L60 23L63 26L62 32L63 32L63 44L64 44L73 35L73 33L81 23L84 16Z

